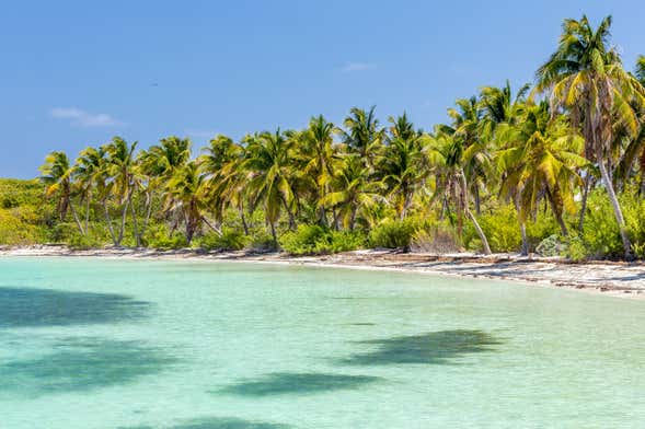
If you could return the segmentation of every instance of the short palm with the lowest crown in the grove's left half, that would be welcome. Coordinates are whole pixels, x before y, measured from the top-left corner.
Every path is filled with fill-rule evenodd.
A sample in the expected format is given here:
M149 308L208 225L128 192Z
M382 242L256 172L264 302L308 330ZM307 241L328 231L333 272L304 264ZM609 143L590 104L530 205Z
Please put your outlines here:
M181 213L188 245L201 223L208 223L205 216L208 209L208 183L195 161L176 170L165 185L164 209Z

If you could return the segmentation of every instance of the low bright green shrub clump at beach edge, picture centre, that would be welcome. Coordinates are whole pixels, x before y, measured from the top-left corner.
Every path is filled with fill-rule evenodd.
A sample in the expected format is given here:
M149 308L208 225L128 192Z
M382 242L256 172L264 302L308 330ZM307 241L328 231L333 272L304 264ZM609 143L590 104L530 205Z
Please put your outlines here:
M280 246L291 255L347 252L361 247L365 237L356 231L330 231L320 225L299 225L280 237Z

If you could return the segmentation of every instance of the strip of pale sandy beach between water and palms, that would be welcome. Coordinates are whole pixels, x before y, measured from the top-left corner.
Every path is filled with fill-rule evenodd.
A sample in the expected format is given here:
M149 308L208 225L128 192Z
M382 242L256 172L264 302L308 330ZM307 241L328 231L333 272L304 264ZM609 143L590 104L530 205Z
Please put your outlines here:
M0 246L0 257L85 256L128 259L220 260L417 273L445 277L493 279L531 286L567 288L602 295L645 299L645 264L520 257L517 254L435 255L369 250L335 255L289 256L285 253L157 251L149 248L72 250L58 245Z

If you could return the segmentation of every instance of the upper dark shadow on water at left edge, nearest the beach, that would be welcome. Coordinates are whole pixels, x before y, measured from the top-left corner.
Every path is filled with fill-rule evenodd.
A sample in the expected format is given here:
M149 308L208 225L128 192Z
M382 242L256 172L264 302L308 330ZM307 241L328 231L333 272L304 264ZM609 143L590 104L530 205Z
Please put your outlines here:
M0 287L0 328L137 320L150 303L115 293Z

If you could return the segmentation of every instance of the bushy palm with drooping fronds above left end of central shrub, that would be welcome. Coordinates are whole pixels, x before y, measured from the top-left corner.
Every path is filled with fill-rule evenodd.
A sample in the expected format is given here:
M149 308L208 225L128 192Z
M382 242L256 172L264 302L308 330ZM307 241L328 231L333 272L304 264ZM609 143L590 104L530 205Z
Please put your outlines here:
M278 129L276 132L262 132L247 136L246 158L242 163L249 172L246 187L251 198L251 209L263 204L266 222L277 243L276 222L284 208L289 216L289 227L295 228L293 211L298 207L293 188L291 165L292 139Z

